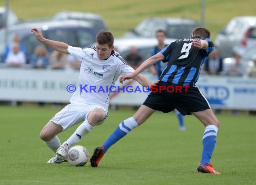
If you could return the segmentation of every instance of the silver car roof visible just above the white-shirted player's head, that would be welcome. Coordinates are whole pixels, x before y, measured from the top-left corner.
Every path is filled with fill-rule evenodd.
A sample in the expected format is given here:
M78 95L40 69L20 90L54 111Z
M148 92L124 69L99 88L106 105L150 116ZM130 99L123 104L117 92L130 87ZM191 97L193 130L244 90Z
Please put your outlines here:
M63 21L69 19L90 22L96 28L97 32L108 31L104 19L101 16L94 13L63 11L58 12L53 16L53 20L55 21Z

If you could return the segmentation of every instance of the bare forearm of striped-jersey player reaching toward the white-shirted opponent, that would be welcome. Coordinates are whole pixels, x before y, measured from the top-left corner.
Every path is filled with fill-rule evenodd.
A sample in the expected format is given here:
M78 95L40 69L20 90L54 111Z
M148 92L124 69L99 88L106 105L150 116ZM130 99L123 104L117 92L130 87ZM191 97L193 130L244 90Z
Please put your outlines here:
M157 53L154 56L146 59L146 61L143 62L134 72L132 72L129 75L122 75L119 79L120 83L123 84L124 80L126 79L133 79L136 75L141 73L141 71L145 70L146 68L154 65L154 63L163 59L164 59L164 56L162 53Z

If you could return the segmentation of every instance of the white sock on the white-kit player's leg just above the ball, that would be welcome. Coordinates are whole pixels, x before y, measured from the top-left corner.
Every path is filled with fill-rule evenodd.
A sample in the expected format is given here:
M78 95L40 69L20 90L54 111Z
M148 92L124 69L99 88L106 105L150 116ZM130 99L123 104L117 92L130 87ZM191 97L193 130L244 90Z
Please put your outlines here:
M85 137L89 132L93 130L93 126L86 119L84 123L80 124L79 127L75 130L75 132L71 135L71 137L65 141L69 147L79 142L83 137ZM63 144L64 144L63 143Z

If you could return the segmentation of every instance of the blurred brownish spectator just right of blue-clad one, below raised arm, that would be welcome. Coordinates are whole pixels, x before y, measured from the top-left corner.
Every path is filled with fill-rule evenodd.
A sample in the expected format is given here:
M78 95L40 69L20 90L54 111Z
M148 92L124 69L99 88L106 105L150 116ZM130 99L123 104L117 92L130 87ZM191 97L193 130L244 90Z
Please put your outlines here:
M67 64L67 54L54 51L50 56L50 64L52 69L64 69Z

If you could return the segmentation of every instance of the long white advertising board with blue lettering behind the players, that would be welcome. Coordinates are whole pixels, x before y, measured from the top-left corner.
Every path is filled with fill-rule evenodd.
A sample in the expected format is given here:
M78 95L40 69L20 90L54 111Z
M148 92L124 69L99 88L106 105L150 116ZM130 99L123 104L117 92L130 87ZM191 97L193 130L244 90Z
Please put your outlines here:
M145 72L152 82L155 77ZM69 102L70 84L79 88L79 70L0 69L0 101ZM84 85L84 84L83 84ZM231 76L200 76L197 85L212 108L256 110L256 79ZM134 80L118 81L110 96L113 105L141 105L148 93ZM115 92L118 91L119 93ZM123 90L122 90L123 89Z

